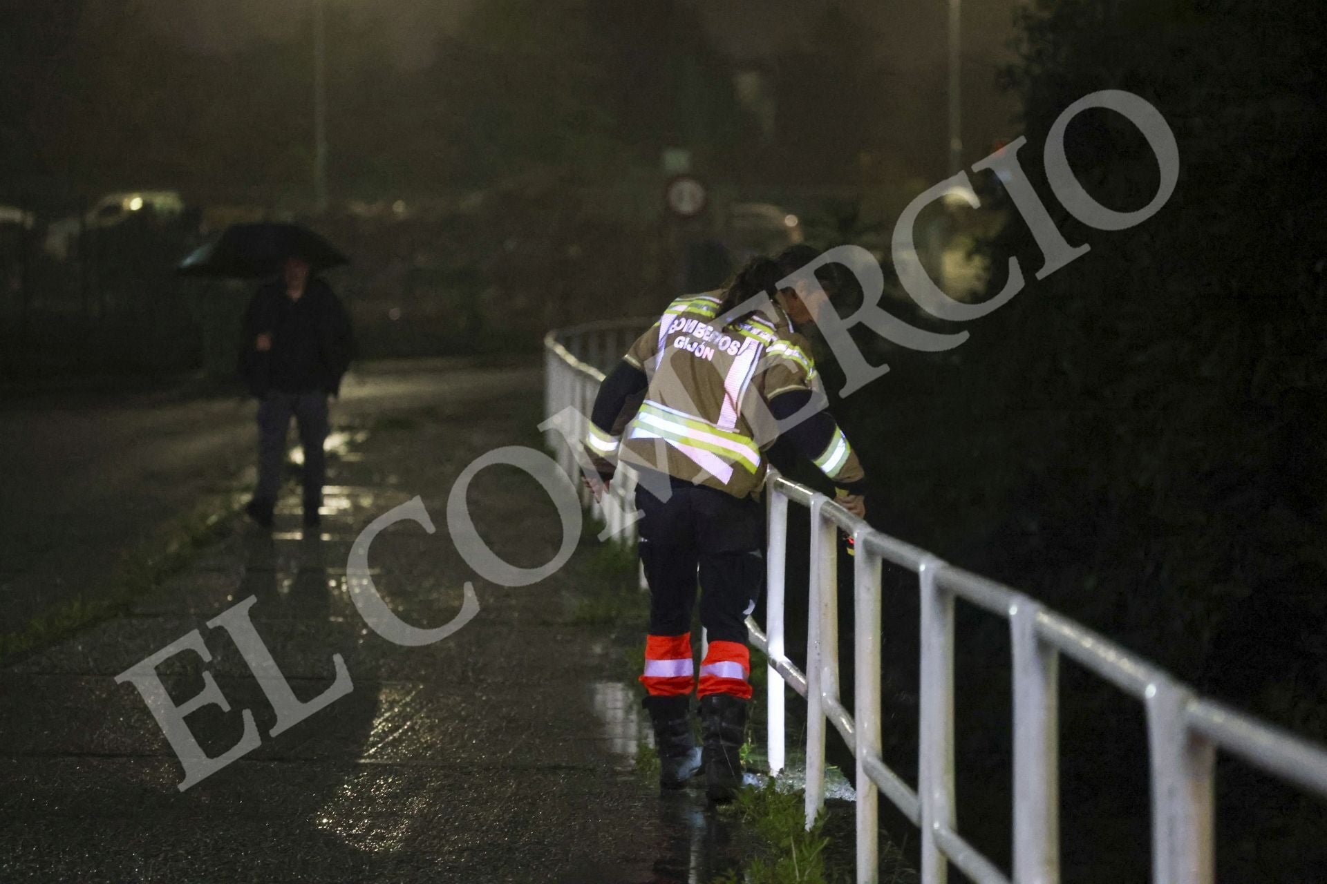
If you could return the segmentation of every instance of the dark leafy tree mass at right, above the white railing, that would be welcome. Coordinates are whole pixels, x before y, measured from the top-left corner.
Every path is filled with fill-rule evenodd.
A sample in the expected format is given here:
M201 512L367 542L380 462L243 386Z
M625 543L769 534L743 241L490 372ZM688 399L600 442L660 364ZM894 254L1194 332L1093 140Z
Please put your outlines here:
M1149 652L1327 733L1314 404L1327 379L1327 9L1062 0L1023 27L1009 82L1030 146L1079 97L1125 89L1164 114L1181 163L1169 203L1132 229L1060 212L1070 243L1092 250L999 318L1003 395L1085 410L1071 431L1082 447L1055 476L1071 490L1047 496L1047 522L1082 538L1082 577ZM1105 205L1140 208L1156 192L1156 159L1117 114L1083 114L1067 150ZM1024 166L1048 193L1038 152ZM1040 265L1018 228L1005 250Z

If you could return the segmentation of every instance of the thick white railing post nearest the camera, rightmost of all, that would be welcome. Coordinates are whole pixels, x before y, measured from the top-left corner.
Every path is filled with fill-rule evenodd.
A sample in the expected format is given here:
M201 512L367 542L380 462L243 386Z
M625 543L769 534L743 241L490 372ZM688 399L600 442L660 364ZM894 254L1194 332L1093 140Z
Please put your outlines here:
M1185 709L1193 694L1186 688L1157 680L1144 696L1152 754L1152 880L1212 884L1216 750L1189 729Z

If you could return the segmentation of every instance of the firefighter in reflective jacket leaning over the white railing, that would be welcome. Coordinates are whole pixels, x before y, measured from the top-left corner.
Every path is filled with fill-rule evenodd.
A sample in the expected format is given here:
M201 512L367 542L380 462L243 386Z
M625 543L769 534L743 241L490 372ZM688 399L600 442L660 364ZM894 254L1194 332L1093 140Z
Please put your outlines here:
M817 285L815 293L802 282L778 289L815 257L809 247L792 247L775 260L752 258L726 289L670 304L604 380L585 440L596 496L618 461L640 477L640 551L650 586L640 680L661 786L679 789L703 766L717 802L742 783L738 753L751 697L746 618L766 571L764 510L755 497L764 449L791 443L829 477L844 506L865 513L861 465L824 410L809 349L792 330L827 300ZM774 301L759 297L771 292ZM697 575L709 636L699 683L690 635ZM693 691L703 753L691 737Z

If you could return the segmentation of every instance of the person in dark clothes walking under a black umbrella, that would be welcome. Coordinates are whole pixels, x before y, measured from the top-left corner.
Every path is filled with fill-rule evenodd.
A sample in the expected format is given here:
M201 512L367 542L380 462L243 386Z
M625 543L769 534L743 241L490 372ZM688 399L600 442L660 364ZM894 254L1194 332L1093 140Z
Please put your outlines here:
M238 224L184 258L179 273L207 278L267 277L244 313L239 372L259 399L257 488L249 518L272 526L291 417L304 449L304 525L320 525L328 399L350 366L350 318L318 270L346 258L293 224ZM272 278L275 277L275 278Z

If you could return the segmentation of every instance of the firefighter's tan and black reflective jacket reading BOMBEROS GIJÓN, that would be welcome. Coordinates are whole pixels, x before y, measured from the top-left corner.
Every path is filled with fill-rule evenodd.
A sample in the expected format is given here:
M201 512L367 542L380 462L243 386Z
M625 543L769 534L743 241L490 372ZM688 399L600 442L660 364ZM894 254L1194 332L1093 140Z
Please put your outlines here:
M861 464L824 411L807 341L772 305L718 327L721 298L670 304L605 380L585 440L600 473L620 459L747 497L764 482L764 449L786 433L844 493L861 493ZM644 387L634 411L632 379Z

